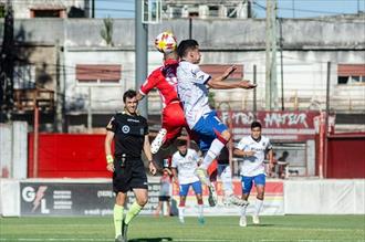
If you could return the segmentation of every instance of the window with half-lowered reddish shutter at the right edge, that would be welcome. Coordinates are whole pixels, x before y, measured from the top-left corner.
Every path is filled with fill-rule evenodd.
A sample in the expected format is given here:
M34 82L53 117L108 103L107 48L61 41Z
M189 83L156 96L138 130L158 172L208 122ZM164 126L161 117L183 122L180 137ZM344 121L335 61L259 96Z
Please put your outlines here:
M337 84L365 84L365 64L338 64Z

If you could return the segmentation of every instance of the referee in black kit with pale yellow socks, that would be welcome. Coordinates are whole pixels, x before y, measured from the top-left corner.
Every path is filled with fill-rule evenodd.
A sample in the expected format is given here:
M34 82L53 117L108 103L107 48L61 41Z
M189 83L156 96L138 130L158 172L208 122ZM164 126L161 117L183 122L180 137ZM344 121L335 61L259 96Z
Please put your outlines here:
M147 159L149 171L156 173L156 167L150 152L147 120L137 114L137 93L129 90L124 93L124 111L112 117L106 126L105 155L106 169L113 172L113 190L116 193L114 206L115 241L127 241L127 228L148 201L148 182L142 150ZM112 141L115 151L112 155ZM124 218L124 206L127 191L133 190L136 201L131 206Z

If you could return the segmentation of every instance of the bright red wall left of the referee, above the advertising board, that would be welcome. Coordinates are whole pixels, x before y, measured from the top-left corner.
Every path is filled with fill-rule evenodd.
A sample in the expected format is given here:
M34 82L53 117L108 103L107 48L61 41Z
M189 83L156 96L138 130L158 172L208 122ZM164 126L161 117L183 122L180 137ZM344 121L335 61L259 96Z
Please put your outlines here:
M109 178L105 135L40 134L40 178ZM33 134L29 135L28 177L33 177Z

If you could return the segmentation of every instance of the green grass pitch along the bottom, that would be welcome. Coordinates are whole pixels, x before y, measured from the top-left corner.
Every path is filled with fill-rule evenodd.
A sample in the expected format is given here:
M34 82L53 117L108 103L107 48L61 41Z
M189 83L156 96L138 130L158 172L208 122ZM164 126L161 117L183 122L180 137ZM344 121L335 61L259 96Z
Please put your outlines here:
M137 217L128 230L136 241L249 241L249 242L363 242L364 215L261 217L260 225L238 225L238 217L197 218ZM113 220L108 218L1 218L0 241L114 241Z

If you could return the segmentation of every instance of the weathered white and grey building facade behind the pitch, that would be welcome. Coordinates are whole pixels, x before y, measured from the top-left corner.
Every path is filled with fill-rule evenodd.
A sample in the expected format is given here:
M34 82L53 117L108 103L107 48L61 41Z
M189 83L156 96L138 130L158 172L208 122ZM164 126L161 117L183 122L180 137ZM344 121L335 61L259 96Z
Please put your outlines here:
M164 30L171 30L178 40L187 39L186 23L187 20L178 19L148 27L149 72L160 65L163 59L154 49L154 38ZM365 32L359 30L365 28L364 18L285 19L281 24L283 45L282 53L277 55L279 97L274 109L325 109L328 78L330 109L336 113L337 123L361 125L365 106ZM92 127L103 127L107 118L122 108L122 93L138 88L135 85L134 20L113 20L113 46L101 34L105 22L97 19L15 20L14 29L20 45L33 46L28 66L15 69L23 69L30 76L27 82L30 80L34 85L41 84L42 72L43 76L51 77L44 85L55 92L56 104L62 99L59 112L63 111L63 122L70 130L72 126L83 130L87 114L93 117ZM265 21L197 19L191 33L200 43L205 71L216 75L236 64L239 70L233 78L253 81L255 76L255 99L252 91L212 91L216 103L229 103L232 109L252 111L253 104L258 111L264 109ZM158 94L152 93L149 114L158 115L160 107Z

